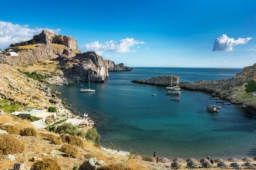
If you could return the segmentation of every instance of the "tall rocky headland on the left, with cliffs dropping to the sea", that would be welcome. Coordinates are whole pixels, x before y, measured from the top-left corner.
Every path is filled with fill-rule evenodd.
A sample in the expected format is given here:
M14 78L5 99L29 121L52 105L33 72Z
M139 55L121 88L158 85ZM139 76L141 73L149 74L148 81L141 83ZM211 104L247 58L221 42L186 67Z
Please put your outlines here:
M33 40L36 44L9 48L19 55L4 55L0 58L0 62L24 67L46 60L55 61L55 70L61 72L61 74L56 75L54 72L57 71L53 71L51 77L67 81L87 82L88 71L90 71L90 78L94 82L105 82L108 79L108 71L132 70L123 63L116 65L111 60L103 59L94 51L82 53L77 47L77 41L69 36L53 34L51 31L43 30L41 34L35 35ZM57 81L52 79L51 82Z

